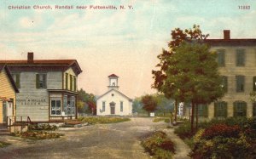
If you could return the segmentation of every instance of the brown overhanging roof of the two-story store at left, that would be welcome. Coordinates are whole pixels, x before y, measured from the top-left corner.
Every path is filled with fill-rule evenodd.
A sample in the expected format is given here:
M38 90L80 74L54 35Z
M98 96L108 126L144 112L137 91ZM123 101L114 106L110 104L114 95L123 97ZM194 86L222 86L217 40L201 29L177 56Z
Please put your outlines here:
M11 71L66 71L72 67L76 75L82 72L77 60L0 60L0 64L9 65Z

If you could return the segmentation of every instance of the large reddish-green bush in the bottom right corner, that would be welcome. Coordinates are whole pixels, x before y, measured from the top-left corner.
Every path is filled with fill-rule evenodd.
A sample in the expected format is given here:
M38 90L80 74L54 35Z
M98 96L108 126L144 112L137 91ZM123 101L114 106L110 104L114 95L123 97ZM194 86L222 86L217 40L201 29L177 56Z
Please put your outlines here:
M253 158L256 140L237 125L216 124L194 136L193 158ZM254 147L254 148L253 148Z

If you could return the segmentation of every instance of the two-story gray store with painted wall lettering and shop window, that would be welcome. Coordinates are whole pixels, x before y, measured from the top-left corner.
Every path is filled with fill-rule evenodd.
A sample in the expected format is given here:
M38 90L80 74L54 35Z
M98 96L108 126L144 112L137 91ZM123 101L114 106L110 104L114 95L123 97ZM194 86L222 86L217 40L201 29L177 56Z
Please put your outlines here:
M77 60L0 60L7 64L20 93L16 115L32 122L50 122L77 117L77 82L82 72Z

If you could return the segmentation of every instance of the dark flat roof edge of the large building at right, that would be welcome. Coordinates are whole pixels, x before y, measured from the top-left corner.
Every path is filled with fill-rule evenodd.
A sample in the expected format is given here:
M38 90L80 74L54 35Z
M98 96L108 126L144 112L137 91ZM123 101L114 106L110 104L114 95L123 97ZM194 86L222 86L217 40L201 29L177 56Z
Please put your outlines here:
M255 38L207 39L205 42L211 46L256 46Z

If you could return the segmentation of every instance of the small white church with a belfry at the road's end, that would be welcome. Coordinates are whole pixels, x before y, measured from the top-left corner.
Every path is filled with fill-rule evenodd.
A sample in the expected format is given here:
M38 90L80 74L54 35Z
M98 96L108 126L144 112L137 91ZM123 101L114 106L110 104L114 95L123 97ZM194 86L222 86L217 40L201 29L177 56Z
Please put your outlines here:
M109 75L108 92L96 99L97 116L132 114L132 99L119 92L118 79L115 74Z

